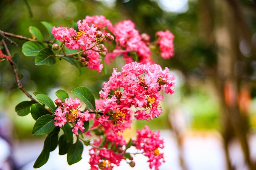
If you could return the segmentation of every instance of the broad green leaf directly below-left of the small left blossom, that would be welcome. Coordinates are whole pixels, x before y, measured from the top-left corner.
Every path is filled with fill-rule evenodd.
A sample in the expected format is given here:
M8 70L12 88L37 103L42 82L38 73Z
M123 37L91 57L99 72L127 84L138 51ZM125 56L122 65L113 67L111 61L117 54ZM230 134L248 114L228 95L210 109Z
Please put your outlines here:
M53 115L42 115L39 117L32 129L33 135L45 135L55 128Z

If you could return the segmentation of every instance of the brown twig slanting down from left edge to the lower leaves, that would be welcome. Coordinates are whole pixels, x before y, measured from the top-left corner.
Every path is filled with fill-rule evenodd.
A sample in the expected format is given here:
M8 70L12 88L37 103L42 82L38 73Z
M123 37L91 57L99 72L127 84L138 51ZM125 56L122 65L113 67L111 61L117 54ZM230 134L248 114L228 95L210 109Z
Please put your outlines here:
M8 55L8 56L11 56L10 51L9 51L9 49L8 49L8 47L7 47L7 45L6 45L5 41L4 41L4 39L2 39L2 43L3 43L3 45L4 45L4 49L5 49L6 53L7 53L7 55ZM30 98L31 100L34 100L36 103L38 103L38 102L36 101L36 99L34 99L34 98L23 88L22 83L21 83L20 78L19 78L19 75L18 75L18 71L17 71L16 66L14 65L14 62L13 62L12 60L10 60L10 64L12 65L12 69L13 69L13 72L14 72L14 75L15 75L15 78L16 78L16 81L17 81L17 83L18 83L18 88L19 88L24 94L26 94L26 96L28 96L28 98Z

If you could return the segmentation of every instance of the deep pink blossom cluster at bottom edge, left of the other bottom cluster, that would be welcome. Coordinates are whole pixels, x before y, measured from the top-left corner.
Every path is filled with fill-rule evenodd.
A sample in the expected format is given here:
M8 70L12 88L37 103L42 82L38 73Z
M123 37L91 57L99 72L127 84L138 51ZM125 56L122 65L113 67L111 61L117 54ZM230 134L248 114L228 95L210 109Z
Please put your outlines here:
M96 147L89 150L91 170L112 170L114 165L119 166L120 162L125 159L123 153L126 142L122 135L106 133L106 143L99 148L101 143L102 139L94 140L93 145Z

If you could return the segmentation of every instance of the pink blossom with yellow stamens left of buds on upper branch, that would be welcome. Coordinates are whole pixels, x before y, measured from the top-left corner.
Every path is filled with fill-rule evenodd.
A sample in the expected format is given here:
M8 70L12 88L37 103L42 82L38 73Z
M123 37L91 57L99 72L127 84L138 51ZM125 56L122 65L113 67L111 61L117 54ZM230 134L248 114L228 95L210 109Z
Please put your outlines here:
M96 40L96 29L95 25L92 24L89 27L86 20L79 20L77 22L78 32L74 28L67 27L53 27L52 34L55 39L63 41L68 49L82 49L87 50L92 42Z

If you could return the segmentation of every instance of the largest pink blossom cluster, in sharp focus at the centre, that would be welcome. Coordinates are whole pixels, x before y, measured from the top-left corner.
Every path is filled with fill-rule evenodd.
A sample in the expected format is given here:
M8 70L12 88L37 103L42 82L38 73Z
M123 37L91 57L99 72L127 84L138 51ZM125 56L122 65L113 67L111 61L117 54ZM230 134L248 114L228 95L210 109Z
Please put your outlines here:
M100 91L100 97L105 100L102 112L116 112L124 107L134 106L137 109L136 119L158 117L162 113L159 102L164 99L160 92L174 93L174 80L169 69L162 70L158 64L132 62L125 64L121 72L114 68L109 81L103 83L103 90Z

